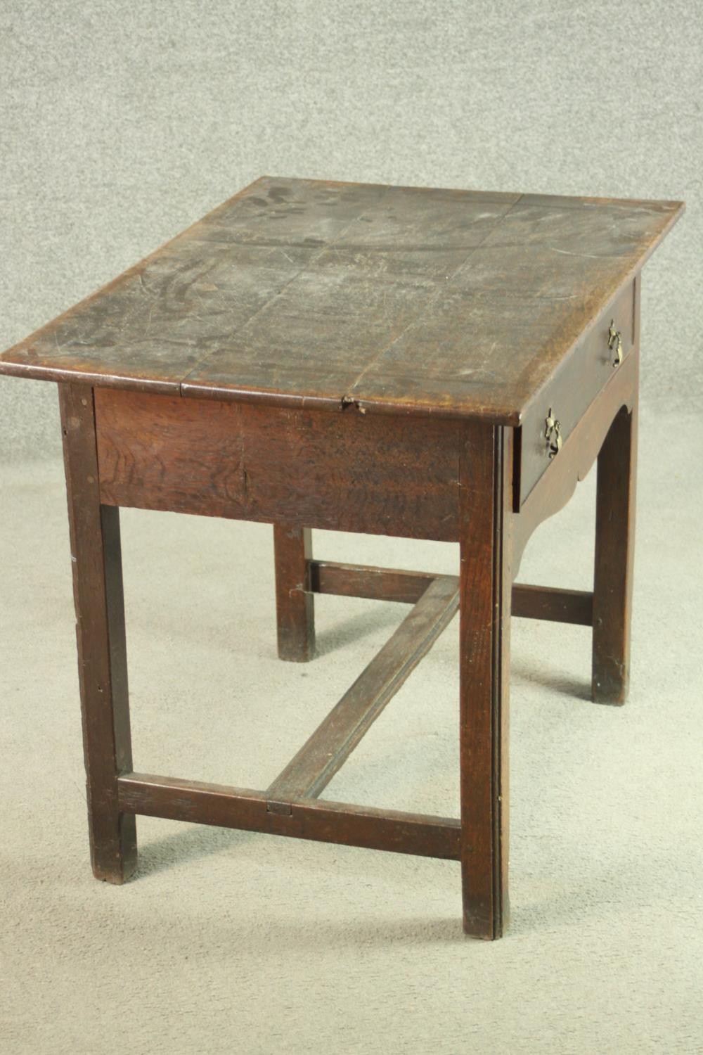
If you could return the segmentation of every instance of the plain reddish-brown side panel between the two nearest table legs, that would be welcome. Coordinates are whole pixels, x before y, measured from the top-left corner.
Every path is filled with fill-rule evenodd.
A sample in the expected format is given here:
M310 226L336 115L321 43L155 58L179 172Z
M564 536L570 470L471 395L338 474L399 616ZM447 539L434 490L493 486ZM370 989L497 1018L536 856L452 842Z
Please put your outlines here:
M96 390L100 498L289 526L453 540L449 421Z

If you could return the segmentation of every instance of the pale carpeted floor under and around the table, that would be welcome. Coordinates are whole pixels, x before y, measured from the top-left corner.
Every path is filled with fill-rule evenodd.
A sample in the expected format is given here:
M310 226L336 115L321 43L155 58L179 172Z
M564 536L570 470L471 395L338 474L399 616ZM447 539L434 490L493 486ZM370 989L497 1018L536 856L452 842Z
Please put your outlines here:
M62 468L0 469L0 1047L7 1053L703 1051L701 426L643 414L632 682L513 620L508 936L464 938L453 862L139 819L87 864ZM522 581L588 589L594 474ZM275 655L271 529L122 516L137 768L265 787L405 608L318 599ZM316 533L318 556L454 571L452 545ZM326 797L456 813L456 621Z

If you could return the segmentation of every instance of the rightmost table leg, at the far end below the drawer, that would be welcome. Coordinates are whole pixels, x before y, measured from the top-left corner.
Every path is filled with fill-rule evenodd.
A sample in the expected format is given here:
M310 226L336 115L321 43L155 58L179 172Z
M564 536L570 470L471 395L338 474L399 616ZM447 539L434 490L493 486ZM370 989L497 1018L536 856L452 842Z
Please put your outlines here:
M624 704L629 679L634 556L637 394L622 407L598 456L592 697Z

